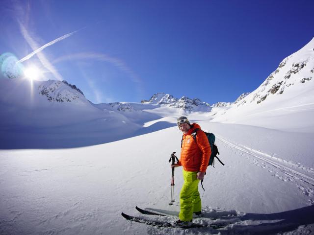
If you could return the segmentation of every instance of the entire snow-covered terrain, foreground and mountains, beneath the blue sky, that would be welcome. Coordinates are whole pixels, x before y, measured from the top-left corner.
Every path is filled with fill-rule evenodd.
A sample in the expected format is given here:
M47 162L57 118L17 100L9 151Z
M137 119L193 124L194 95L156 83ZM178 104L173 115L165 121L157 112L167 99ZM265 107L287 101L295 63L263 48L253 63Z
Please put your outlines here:
M287 57L256 91L212 106L160 93L93 104L65 81L1 79L0 234L314 234L313 48L314 40ZM194 221L233 221L226 228L155 228L121 216L140 215L136 205L178 214L178 202L168 205L168 160L180 156L181 115L216 135L226 164L209 167L205 217Z

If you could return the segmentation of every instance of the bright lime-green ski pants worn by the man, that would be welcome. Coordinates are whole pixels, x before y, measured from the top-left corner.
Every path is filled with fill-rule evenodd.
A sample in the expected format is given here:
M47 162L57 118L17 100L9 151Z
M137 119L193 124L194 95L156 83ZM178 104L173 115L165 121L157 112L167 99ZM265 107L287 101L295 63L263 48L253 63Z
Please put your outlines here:
M180 213L179 219L190 221L193 212L201 211L202 203L200 193L198 192L197 172L183 170L183 187L180 192Z

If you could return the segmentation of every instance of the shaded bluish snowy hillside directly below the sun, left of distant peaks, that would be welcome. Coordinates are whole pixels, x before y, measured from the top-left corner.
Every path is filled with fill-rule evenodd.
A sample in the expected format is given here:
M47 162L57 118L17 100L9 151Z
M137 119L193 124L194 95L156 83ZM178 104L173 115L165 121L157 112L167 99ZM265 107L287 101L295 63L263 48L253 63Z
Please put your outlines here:
M94 107L71 86L53 80L1 79L0 147L86 146L136 135L141 126L118 112Z

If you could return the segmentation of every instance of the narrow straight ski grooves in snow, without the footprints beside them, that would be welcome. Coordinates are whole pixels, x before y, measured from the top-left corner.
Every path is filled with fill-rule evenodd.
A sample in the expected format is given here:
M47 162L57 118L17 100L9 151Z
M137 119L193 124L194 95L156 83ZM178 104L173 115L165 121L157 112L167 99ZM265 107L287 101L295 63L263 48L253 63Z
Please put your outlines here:
M235 144L233 144L233 143L231 143L231 142L229 142L229 141L226 141L225 139L223 139L223 138L220 137L220 136L217 136L217 135L216 135L216 137L217 137L218 140L220 140L220 141L226 143L227 145L229 145L229 146L231 146L231 147L234 147L234 148L236 148L236 149L238 149L238 150L240 150L240 151L242 151L242 152L245 152L245 153L247 153L247 154L249 154L249 155L251 155L251 156L253 156L253 157L255 157L255 158L258 158L258 159L260 159L260 160L262 160L262 161L264 161L264 162L266 162L266 163L272 165L273 167L278 168L280 171L282 171L282 172L285 173L286 175L288 175L288 176L290 176L290 177L293 177L293 178L296 178L296 179L299 179L299 180L301 180L301 181L303 181L303 182L305 182L305 183L307 183L307 184L309 184L309 185L311 185L311 186L314 187L314 178L312 178L312 177L310 177L310 176L307 176L307 175L305 175L305 174L303 174L303 173L301 173L301 172L298 172L298 171L296 171L296 170L294 170L294 169L291 169L291 168L289 168L288 166L285 166L285 165L282 165L282 164L279 164L279 163L275 163L274 161L272 161L272 160L270 160L270 159L266 159L266 158L264 158L264 157L262 157L262 156L258 156L256 153L258 153L259 155L264 155L264 156L269 156L269 155L266 155L266 154L264 154L264 153L261 153L261 152L259 152L258 150L252 151L252 150L248 150L248 149L242 148L242 147L240 147L240 146L238 146L238 145L235 145ZM246 148L247 148L247 147L246 147ZM255 152L255 153L254 153L254 152ZM270 156L270 157L271 157L271 156ZM299 176L299 178L296 177L296 176Z

